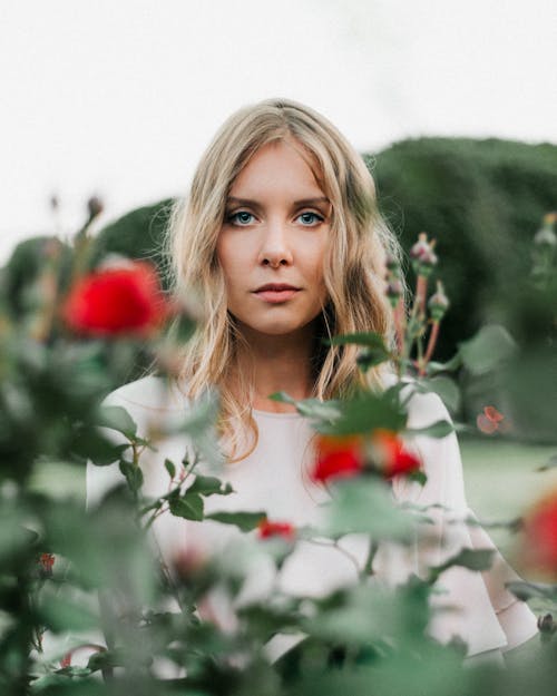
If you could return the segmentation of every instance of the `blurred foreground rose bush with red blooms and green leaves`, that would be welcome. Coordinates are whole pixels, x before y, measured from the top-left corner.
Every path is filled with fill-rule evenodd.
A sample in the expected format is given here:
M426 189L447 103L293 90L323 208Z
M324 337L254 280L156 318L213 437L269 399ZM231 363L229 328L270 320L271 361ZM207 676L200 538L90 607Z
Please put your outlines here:
M90 206L89 215L98 209ZM391 284L398 350L374 334L333 339L361 346L363 372L390 361L410 382L399 380L382 394L365 391L331 404L294 402L317 431L313 480L334 481L328 523L316 529L295 529L265 511L206 513L207 498L232 493L217 476L199 469L205 460L218 473L219 460L212 459L214 400L192 404L188 418L168 424L168 432L160 432L158 423L148 438L124 409L100 405L118 385L123 355L134 354L126 352L128 344L148 351L163 371L178 364L179 346L174 359L163 334L176 305L146 264L86 268L87 244L80 231L68 291L50 256L33 288L42 292L32 294L37 302L28 313L17 321L0 316L2 696L446 696L456 685L463 696L524 696L525 683L534 693L551 693L556 640L548 641L541 667L522 665L509 676L463 669L461 646L441 646L427 634L434 614L428 574L395 588L370 581L382 542L408 550L414 525L429 525L427 510L399 510L385 482L397 476L419 480L419 459L404 444L407 435L421 432L408 427L409 384L418 392L442 392L448 400L456 389L449 367L436 364L428 347L439 333L439 307L447 303L427 302L437 254L426 237L414 253L419 292L408 315L401 311L402 284ZM400 269L391 266L400 281ZM0 302L0 313L1 307ZM452 366L485 370L487 360L497 359L500 336L491 331L465 342ZM485 415L498 422L495 410ZM450 430L441 421L427 434L444 437ZM168 486L158 498L145 496L143 458L156 458L158 439L177 434L188 438L192 452L179 462L162 458ZM121 473L120 486L90 510L76 493L87 460L99 467L117 462ZM186 545L166 567L149 536L162 514L251 533L219 555ZM525 517L524 527L528 561L551 572L556 519L551 498ZM299 543L326 546L350 561L342 541L354 530L367 537L369 553L353 586L325 597L300 597L273 585L262 599L238 601L254 567L263 562L278 572ZM267 539L287 543L262 543ZM447 567L482 567L473 555L456 559ZM555 588L535 590L557 598ZM226 610L226 624L212 619L215 602ZM270 643L285 636L305 639L273 661Z

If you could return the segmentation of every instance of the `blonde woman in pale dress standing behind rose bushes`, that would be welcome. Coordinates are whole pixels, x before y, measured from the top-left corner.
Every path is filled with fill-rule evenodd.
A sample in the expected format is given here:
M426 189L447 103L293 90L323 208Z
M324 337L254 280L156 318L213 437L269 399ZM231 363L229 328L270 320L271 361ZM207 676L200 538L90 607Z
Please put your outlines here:
M154 421L179 416L187 399L216 385L221 443L228 459L223 478L236 492L208 499L206 512L263 509L295 526L315 523L317 503L328 494L306 476L312 431L292 404L270 394L326 400L362 385L381 389L390 379L384 367L372 367L364 376L355 346L325 347L321 342L368 331L392 339L384 259L387 253L398 254L398 245L378 214L373 180L325 118L294 101L266 100L241 109L221 128L170 232L177 290L198 293L206 321L184 346L176 384L167 388L146 378L115 392L109 403L124 405L147 432ZM441 418L449 416L434 394L412 396L409 428ZM162 462L180 461L186 444L169 439L143 463L149 494L165 492ZM455 435L417 437L413 445L428 482L421 488L395 480L395 498L440 503L462 520L468 506ZM106 490L114 476L89 468L89 499ZM444 510L432 514L434 548L419 549L412 558L381 548L373 565L379 577L402 581L462 547L494 548L481 529L447 525ZM185 522L169 514L157 520L155 532L167 560L186 547L198 552L223 548L228 538L216 522ZM284 591L322 595L354 581L363 563L361 541L346 538L343 545L339 550L299 542L281 572ZM512 577L500 556L482 575L456 567L444 572L439 586L448 595L439 604L458 610L437 615L431 634L442 641L460 636L469 657L499 656L530 638L534 616L504 589L504 580ZM260 575L247 598L265 591ZM223 625L234 621L216 602L204 610Z

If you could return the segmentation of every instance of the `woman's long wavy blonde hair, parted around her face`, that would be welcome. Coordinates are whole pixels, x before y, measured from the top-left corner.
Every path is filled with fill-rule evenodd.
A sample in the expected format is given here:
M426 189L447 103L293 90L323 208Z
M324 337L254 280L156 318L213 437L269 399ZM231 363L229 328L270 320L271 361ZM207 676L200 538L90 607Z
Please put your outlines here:
M360 155L326 118L290 99L267 99L233 114L203 155L189 195L176 203L168 235L174 288L194 293L204 315L183 346L178 386L189 399L218 389L218 432L228 461L247 457L258 432L253 373L238 369L238 351L250 355L250 346L227 311L216 244L235 178L261 147L280 140L294 140L307 154L332 208L328 300L315 324L312 395L342 399L363 386L381 388L378 367L367 374L358 367L358 346L325 345L322 337L372 331L392 342L384 262L387 253L399 257L400 247L378 212L373 178Z

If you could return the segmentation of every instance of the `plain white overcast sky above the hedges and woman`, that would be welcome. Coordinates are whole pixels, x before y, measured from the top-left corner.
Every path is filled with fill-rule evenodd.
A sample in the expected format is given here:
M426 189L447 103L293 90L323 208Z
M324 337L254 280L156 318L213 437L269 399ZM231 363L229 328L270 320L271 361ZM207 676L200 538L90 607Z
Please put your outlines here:
M272 96L363 150L421 135L557 143L555 0L0 0L0 262L182 194L216 128Z

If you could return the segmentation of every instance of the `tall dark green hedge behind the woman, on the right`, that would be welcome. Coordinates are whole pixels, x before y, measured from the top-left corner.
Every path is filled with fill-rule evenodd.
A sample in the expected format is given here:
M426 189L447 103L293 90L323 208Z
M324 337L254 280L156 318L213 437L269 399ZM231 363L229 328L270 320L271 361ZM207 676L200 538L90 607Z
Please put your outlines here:
M426 231L443 259L451 301L439 344L447 359L485 322L531 339L547 332L527 302L531 239L556 205L557 147L489 138L417 138L364 157L380 208L404 249ZM555 297L555 295L554 295Z

